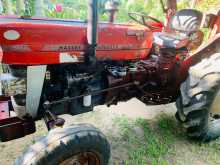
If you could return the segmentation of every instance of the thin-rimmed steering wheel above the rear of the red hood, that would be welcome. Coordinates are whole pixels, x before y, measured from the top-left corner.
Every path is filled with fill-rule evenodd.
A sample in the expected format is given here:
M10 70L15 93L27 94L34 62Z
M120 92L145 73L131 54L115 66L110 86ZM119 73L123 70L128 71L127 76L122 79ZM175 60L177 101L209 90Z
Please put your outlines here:
M163 23L158 19L143 13L129 12L128 16L135 22L147 26L151 30L160 30L163 26ZM151 21L146 21L147 19L150 19Z

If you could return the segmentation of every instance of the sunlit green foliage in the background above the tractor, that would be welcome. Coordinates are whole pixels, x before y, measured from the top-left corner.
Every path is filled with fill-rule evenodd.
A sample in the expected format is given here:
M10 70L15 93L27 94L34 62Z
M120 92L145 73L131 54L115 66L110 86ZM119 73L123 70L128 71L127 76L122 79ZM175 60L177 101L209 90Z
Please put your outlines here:
M11 0L13 3L13 11L16 11L16 0ZM29 2L31 14L34 15L34 0L25 0ZM107 0L99 0L100 20L107 21L108 14L104 11L105 2ZM120 2L119 11L117 13L117 22L128 22L128 12L140 12L153 16L161 21L164 21L164 14L160 4L160 0L117 0ZM166 0L165 0L166 1ZM44 0L44 12L47 17L56 17L62 19L82 19L87 18L87 0ZM63 11L57 13L54 10L48 9L46 2L53 4L62 4ZM188 0L179 0L178 9L188 8L190 6ZM196 5L196 9L208 11L212 7L220 7L220 0L200 0ZM24 13L25 14L25 13Z

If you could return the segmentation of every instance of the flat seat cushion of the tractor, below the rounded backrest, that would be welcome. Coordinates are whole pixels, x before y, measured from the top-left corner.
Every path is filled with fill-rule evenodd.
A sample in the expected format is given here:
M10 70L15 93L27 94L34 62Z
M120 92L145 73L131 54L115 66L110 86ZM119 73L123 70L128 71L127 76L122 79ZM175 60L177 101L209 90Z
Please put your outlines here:
M180 49L186 47L189 43L189 39L185 35L177 33L158 32L154 33L154 44L161 48L173 48Z

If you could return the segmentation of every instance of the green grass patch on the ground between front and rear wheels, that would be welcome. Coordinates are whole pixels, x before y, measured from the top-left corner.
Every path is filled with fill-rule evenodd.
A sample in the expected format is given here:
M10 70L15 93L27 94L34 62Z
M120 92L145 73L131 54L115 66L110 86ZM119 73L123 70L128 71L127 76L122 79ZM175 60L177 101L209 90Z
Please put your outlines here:
M129 159L125 160L126 165L169 164L166 157L175 152L172 147L175 141L175 122L172 119L163 116L156 125L152 121L132 121L125 117L117 118L115 122L120 127L122 140L128 144ZM137 133L137 129L142 132L139 130Z

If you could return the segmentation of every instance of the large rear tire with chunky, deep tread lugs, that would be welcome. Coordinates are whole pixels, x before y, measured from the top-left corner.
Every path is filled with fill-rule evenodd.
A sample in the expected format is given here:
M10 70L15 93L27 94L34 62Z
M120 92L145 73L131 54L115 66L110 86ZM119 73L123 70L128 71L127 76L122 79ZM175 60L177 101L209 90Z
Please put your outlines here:
M176 118L190 138L210 141L220 136L220 115L212 112L220 101L216 100L219 92L220 53L216 53L190 68L176 101Z

